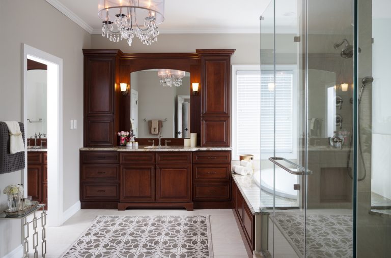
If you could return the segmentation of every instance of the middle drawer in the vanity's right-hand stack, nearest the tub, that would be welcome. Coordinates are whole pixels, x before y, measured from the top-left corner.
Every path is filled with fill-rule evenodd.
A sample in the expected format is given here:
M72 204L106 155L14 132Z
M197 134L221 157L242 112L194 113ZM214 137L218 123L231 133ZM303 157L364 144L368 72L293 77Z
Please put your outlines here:
M196 164L193 166L194 180L229 180L230 176L230 164Z

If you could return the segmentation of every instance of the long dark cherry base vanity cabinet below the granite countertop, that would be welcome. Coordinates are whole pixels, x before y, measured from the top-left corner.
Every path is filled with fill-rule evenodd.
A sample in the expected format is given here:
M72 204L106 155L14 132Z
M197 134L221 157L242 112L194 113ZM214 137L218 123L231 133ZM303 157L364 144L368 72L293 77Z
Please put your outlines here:
M231 151L80 151L81 208L231 208Z

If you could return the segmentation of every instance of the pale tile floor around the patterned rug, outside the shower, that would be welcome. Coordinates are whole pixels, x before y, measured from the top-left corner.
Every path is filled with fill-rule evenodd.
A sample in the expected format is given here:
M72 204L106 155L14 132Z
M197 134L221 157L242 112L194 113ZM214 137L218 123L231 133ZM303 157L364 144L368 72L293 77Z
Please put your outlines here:
M50 213L50 211L49 211ZM37 214L38 215L38 214ZM50 214L49 214L50 215ZM48 216L49 216L48 215ZM91 225L94 218L98 215L210 215L213 252L216 258L235 257L247 258L244 243L239 233L234 214L232 210L109 210L109 209L82 209L68 219L61 227L47 228L47 253L46 257L54 258L68 250L68 248L76 241L82 233L84 233ZM40 226L40 221L38 225ZM32 227L32 226L31 226ZM32 230L32 228L30 229ZM41 231L39 230L39 239L41 239ZM32 242L32 241L31 241ZM30 243L30 257L33 256L32 243ZM39 244L39 257L41 257L41 248Z

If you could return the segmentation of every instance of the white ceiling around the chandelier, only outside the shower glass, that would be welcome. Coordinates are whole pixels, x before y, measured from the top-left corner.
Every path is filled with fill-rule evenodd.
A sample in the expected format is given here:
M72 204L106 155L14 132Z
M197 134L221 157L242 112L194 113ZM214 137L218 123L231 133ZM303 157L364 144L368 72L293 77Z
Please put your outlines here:
M271 0L165 0L160 33L259 33ZM46 0L92 34L102 33L98 0Z

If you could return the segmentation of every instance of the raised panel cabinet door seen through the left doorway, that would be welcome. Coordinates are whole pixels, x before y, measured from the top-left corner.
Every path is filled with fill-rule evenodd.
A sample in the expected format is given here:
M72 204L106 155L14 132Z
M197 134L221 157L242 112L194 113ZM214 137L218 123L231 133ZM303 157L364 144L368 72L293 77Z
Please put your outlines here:
M42 165L27 166L27 195L42 202Z

